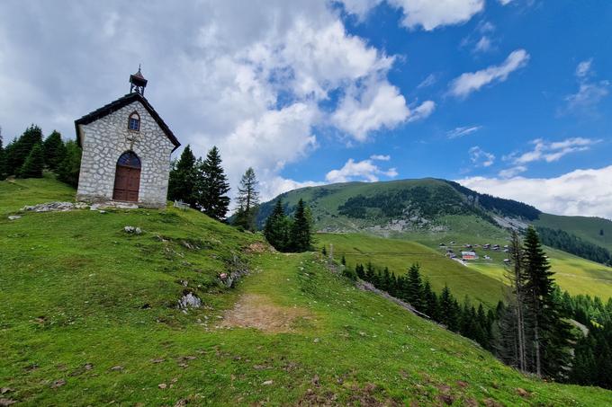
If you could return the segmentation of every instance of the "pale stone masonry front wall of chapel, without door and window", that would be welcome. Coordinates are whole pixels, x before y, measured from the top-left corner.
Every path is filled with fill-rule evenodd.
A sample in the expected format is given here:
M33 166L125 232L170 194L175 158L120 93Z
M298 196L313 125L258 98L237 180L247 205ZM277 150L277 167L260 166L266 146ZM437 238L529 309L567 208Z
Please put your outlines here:
M128 130L133 111L139 113L140 131ZM117 160L126 151L133 151L141 163L139 206L166 206L170 155L175 146L140 102L81 128L83 157L76 199L112 199Z

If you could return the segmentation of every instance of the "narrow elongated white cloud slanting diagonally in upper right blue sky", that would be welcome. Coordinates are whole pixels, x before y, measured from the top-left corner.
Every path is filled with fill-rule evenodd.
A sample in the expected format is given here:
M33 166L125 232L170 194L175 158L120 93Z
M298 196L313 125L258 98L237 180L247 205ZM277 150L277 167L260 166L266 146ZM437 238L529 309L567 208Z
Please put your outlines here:
M503 82L517 69L526 66L529 54L525 49L517 49L510 53L506 60L497 66L489 66L476 72L467 72L455 78L450 84L450 93L464 98L478 91L482 86L494 82Z

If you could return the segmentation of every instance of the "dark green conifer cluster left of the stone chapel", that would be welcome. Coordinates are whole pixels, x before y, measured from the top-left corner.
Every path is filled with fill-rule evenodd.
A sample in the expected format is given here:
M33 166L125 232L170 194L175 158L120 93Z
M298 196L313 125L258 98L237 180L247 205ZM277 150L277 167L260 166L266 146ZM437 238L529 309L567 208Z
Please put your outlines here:
M81 148L75 140L64 142L56 130L43 137L40 127L32 124L6 146L0 131L0 180L9 176L41 178L47 170L76 187L80 167Z

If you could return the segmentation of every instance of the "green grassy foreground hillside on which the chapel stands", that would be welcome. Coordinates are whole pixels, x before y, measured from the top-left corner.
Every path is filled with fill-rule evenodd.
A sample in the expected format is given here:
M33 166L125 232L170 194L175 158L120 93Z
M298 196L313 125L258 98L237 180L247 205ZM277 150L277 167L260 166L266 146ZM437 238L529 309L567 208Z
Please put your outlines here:
M612 403L599 388L521 376L472 341L360 291L316 253L268 252L258 235L192 210L7 219L72 193L51 180L0 182L4 403ZM245 268L237 288L216 279ZM185 291L203 306L177 309Z

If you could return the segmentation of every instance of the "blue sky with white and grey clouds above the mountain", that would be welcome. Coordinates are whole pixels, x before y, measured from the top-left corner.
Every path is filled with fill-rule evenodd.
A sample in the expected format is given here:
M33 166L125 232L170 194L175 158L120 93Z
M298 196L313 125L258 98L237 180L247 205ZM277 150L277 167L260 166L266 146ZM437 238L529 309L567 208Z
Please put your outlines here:
M612 218L611 39L608 0L4 0L0 126L74 138L140 64L233 190L436 177Z

